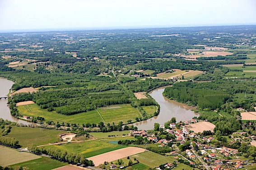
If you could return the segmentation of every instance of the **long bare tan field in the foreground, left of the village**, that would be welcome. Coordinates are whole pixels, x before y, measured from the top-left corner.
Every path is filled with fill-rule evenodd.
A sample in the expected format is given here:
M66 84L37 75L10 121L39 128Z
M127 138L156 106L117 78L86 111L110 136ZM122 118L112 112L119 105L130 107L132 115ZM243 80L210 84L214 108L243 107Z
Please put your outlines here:
M124 157L129 157L131 155L135 155L137 153L141 153L146 151L143 148L137 148L137 147L127 147L122 149L117 149L115 151L102 153L100 155L89 157L88 160L92 160L95 166L99 166L100 164L103 164L105 161L111 162L115 161L117 159L121 159Z

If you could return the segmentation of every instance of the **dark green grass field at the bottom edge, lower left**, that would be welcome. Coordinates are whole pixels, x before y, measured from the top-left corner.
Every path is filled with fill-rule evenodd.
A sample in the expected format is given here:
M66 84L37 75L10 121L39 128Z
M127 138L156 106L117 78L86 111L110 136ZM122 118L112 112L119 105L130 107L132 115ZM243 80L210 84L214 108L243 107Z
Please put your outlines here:
M65 165L68 165L68 163L53 160L48 157L41 157L39 159L22 162L12 166L27 167L30 170L52 170Z

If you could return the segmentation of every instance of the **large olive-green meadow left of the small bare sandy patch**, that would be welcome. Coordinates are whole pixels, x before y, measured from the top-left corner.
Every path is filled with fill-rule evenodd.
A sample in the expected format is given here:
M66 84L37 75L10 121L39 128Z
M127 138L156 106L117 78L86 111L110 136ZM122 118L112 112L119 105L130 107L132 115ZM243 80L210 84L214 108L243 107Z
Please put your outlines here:
M28 147L32 144L55 143L59 139L58 134L61 133L65 131L12 126L11 132L6 136L16 138L21 146Z

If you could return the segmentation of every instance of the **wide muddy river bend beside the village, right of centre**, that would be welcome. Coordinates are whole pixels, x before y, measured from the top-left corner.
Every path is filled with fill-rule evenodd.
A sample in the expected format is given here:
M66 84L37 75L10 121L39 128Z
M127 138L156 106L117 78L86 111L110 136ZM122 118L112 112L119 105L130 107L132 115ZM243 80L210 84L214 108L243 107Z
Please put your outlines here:
M164 89L165 87L160 87L149 93L149 95L160 105L160 112L158 116L154 116L146 121L135 123L134 125L137 126L139 130L152 130L154 129L154 123L163 125L165 122L171 120L172 117L176 117L176 121L178 122L188 121L194 116L199 116L199 114L190 110L193 107L164 97Z

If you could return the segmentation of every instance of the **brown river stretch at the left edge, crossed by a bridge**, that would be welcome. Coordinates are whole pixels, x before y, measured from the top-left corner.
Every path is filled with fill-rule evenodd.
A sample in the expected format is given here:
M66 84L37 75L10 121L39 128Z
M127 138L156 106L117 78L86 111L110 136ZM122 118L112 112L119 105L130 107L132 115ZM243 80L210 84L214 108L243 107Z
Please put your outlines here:
M14 84L13 81L0 77L0 97L7 96L13 84ZM8 99L0 100L0 118L8 121L23 123L25 125L29 124L27 121L19 120L11 116L11 112L7 105L7 102L8 102Z

